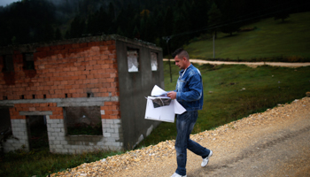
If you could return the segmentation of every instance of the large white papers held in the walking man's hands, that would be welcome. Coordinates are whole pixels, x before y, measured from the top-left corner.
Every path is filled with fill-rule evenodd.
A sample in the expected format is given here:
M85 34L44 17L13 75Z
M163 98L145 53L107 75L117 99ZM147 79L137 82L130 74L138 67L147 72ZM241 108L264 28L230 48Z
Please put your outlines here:
M167 96L167 91L155 85L147 97L145 119L174 122L174 114L186 112L176 99Z

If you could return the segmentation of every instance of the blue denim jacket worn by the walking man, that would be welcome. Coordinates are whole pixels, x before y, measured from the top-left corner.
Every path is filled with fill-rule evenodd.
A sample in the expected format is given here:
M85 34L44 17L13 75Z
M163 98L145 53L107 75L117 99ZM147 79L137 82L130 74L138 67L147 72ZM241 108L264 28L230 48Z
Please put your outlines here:
M201 73L191 65L179 72L180 76L176 83L176 100L182 104L186 111L198 111L204 104L204 90Z

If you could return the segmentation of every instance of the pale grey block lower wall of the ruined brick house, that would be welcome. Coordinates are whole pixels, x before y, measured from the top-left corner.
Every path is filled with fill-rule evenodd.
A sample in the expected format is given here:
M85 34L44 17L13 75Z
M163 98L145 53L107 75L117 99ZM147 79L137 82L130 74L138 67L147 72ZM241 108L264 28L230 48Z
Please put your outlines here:
M120 119L102 119L103 135L66 135L64 119L46 115L50 152L81 153L94 150L122 150L123 135ZM4 143L5 152L29 150L26 119L12 119L12 133Z

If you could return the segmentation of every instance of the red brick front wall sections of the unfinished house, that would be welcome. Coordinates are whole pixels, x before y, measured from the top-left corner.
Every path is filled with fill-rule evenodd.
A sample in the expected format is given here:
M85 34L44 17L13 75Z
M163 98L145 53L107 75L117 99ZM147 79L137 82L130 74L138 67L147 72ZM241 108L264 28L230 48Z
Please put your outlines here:
M23 69L23 55L14 50L14 72L0 72L0 100L119 96L115 41L85 42L37 48L35 70ZM3 58L0 56L0 71ZM49 103L46 103L49 104ZM15 104L12 119L23 119L19 111L52 111L50 119L63 119L62 108L50 103ZM57 109L56 109L57 108ZM61 109L61 113L60 113ZM103 119L120 119L118 102L107 102ZM108 111L107 111L108 110ZM55 112L55 114L54 114Z

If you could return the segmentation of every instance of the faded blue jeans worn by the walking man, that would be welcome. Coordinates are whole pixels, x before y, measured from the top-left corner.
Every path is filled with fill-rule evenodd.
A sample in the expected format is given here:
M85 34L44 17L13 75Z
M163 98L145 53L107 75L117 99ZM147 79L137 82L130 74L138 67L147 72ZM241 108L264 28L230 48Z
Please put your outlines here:
M198 142L190 140L190 133L194 128L196 120L198 118L198 111L184 112L176 115L176 130L177 135L175 139L175 150L176 150L176 162L178 167L175 173L180 175L186 175L186 160L187 160L187 149L194 152L202 158L206 158L210 150L202 147Z

